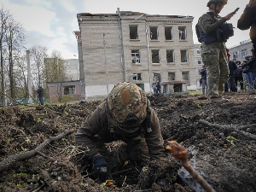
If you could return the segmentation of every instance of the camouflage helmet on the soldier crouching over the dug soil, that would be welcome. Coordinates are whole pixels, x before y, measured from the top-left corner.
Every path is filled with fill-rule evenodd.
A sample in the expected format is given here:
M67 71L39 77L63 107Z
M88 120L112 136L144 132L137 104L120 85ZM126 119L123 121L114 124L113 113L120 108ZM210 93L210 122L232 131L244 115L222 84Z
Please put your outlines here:
M116 84L108 95L108 108L119 125L135 127L147 116L146 93L130 82Z

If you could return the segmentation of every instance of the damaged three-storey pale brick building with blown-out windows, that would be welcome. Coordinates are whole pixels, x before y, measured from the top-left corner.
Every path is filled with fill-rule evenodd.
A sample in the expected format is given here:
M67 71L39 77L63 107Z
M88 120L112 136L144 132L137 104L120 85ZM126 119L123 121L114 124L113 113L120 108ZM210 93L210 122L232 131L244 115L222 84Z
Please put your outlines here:
M130 81L166 94L196 89L192 16L131 11L77 15L79 63L86 98L105 98L114 84Z

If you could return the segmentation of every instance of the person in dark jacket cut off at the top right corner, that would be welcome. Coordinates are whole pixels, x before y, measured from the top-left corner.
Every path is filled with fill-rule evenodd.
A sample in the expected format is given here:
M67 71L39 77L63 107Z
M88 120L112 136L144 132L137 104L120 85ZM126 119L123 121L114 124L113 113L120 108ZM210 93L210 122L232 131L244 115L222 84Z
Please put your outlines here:
M250 38L253 43L254 51L256 49L256 0L250 0L244 9L240 19L237 20L237 28L241 30L250 29Z

